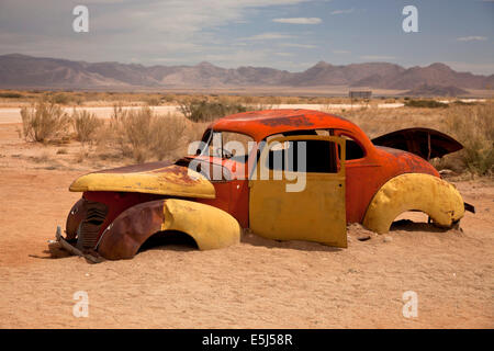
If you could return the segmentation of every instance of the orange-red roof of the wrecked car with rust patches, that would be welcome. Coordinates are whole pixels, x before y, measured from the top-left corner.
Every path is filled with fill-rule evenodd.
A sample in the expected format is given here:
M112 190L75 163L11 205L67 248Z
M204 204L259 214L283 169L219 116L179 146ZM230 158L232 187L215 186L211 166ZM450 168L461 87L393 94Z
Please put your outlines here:
M303 129L341 128L363 134L352 122L313 110L281 109L232 114L212 123L210 128L247 134L255 140L267 136Z

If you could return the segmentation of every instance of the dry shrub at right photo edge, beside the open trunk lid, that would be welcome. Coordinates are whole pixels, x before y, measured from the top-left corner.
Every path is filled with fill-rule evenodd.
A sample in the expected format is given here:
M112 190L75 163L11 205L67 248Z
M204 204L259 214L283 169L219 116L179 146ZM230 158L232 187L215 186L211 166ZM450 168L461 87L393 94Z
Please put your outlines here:
M448 111L446 124L463 149L451 155L449 162L480 176L494 173L494 105L457 106Z

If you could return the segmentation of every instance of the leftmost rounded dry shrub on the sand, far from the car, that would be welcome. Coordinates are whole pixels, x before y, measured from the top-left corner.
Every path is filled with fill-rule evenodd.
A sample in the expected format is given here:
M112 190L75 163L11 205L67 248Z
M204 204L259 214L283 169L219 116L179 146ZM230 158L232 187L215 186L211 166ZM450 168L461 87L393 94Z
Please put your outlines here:
M40 101L21 109L22 133L26 140L44 143L67 135L69 118L54 102Z

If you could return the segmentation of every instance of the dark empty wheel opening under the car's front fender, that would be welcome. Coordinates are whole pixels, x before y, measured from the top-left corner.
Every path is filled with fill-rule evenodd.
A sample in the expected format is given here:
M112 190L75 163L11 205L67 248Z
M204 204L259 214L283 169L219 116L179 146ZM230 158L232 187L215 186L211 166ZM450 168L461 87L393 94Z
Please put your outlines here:
M188 234L177 230L158 231L150 236L139 248L138 252L147 250L198 250L198 244Z

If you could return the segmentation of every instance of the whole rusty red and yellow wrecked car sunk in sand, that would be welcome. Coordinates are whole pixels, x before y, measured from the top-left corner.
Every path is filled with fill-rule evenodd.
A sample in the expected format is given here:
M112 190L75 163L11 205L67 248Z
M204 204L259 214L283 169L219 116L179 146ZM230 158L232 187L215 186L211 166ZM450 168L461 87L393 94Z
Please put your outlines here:
M228 133L248 137L252 147L244 154L228 150ZM214 143L220 147L212 148ZM295 148L302 143L305 183L290 192L300 172L289 163L302 163ZM464 214L463 200L427 160L461 148L426 128L370 140L350 121L318 111L234 114L213 122L202 146L175 162L78 178L69 190L82 197L57 242L99 261L132 258L150 237L176 231L206 250L238 242L243 228L277 240L347 247L348 223L382 234L406 211L422 211L434 224L451 227ZM273 162L277 155L284 174Z

